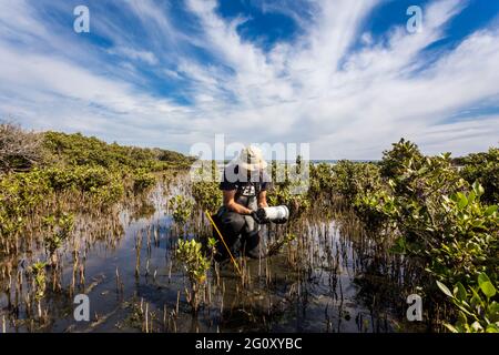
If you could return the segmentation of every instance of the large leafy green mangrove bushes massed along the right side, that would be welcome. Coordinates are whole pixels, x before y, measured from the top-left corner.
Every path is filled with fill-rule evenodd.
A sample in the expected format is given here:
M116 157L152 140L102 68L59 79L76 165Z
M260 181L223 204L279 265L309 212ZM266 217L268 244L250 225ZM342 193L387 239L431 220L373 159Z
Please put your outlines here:
M497 156L497 149L470 154L458 161L464 166L459 171L450 153L424 156L416 144L400 140L384 152L378 166L342 161L333 168L333 191L350 204L367 229L389 227L396 236L393 251L422 262L438 282L460 285L460 303L456 298L454 305L457 313L467 312L449 326L452 331L495 331L497 326L491 321L498 316L497 304L483 303L477 291L485 277L477 285L477 275L488 274L497 283L499 273ZM314 179L314 186L328 181L317 174ZM471 303L464 301L462 290L468 290Z

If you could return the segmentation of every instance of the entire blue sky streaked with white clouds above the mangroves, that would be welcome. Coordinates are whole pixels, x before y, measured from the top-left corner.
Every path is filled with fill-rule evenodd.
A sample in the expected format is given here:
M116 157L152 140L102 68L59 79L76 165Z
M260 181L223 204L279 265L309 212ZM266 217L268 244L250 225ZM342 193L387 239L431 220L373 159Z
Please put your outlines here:
M90 9L90 33L73 9ZM499 141L499 1L0 0L0 118L189 152L309 143L312 159ZM409 33L406 11L422 9Z

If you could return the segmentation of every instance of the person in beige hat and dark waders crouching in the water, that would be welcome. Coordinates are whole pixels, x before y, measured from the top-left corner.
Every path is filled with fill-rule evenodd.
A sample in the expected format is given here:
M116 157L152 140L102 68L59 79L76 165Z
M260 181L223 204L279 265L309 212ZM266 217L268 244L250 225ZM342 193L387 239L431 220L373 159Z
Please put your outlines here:
M221 225L225 243L231 252L240 243L241 251L249 257L265 256L261 247L261 233L256 211L267 207L267 190L269 180L264 169L267 163L262 151L247 146L241 151L235 163L225 168L224 180L220 184L223 191L224 205L218 210L216 220ZM224 245L218 243L221 258L227 257Z

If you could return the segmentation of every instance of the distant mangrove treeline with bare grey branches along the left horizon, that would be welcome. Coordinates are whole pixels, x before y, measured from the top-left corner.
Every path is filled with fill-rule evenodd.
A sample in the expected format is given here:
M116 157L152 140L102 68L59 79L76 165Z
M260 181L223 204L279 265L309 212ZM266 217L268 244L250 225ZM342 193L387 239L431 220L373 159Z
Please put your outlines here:
M187 168L193 161L194 158L159 148L108 144L81 133L35 133L11 123L0 124L0 172L53 165L162 171L169 168Z

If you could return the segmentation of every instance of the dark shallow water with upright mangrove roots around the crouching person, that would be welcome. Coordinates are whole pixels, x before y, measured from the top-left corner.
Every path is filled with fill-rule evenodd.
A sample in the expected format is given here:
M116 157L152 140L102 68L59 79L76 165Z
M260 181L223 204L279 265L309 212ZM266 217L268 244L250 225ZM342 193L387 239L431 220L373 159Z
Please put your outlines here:
M210 272L205 302L193 316L186 302L189 282L175 261L179 237L210 233L200 211L184 231L166 209L170 195L186 193L182 179L170 193L162 185L149 204L120 213L122 233L64 248L62 292L48 292L42 302L47 321L27 316L26 306L8 305L1 276L0 317L7 332L395 332L410 329L404 321L403 287L410 280L400 258L379 245L348 219L316 213L293 226L264 229L271 244L284 233L296 240L265 260L240 260L249 283L230 263ZM142 213L142 215L141 215ZM329 214L329 216L327 216ZM78 234L78 233L77 233ZM136 274L136 241L142 239ZM28 262L35 256L26 256ZM84 270L81 271L82 265ZM18 266L22 270L22 264ZM84 274L84 283L81 281ZM218 274L218 276L217 276ZM116 276L118 275L118 276ZM74 276L74 277L73 277ZM74 284L74 291L71 285ZM81 285L79 285L81 284ZM11 286L11 300L16 298ZM24 287L28 288L28 287ZM50 287L49 287L50 288ZM75 322L73 296L90 298L90 322ZM401 294L400 294L401 293ZM18 298L23 300L22 291ZM12 301L11 301L12 303ZM1 320L0 320L1 321Z

